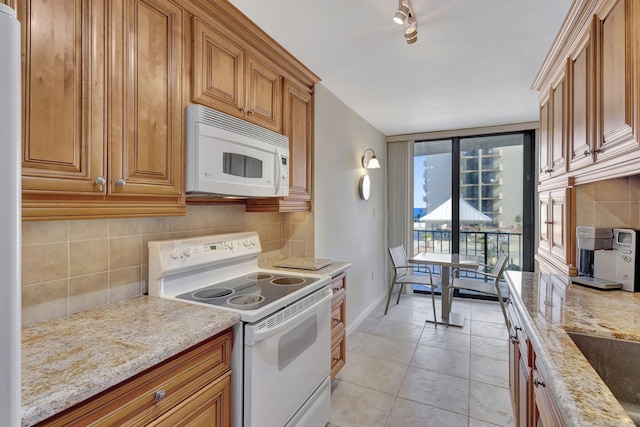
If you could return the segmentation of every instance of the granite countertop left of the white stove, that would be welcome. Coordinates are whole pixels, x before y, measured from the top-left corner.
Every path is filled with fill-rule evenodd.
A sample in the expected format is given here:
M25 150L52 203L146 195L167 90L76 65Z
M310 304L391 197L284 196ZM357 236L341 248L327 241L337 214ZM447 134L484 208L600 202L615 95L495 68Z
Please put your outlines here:
M235 313L140 296L22 329L22 425L38 423L233 326Z

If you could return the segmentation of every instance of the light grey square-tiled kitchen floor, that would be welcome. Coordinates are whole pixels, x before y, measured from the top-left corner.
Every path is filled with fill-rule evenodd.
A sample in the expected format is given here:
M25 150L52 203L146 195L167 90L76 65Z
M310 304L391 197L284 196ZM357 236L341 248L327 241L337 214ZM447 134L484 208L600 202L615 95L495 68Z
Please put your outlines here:
M462 328L425 323L428 310L429 296L403 296L386 316L380 304L349 335L328 427L514 425L498 303L456 299Z

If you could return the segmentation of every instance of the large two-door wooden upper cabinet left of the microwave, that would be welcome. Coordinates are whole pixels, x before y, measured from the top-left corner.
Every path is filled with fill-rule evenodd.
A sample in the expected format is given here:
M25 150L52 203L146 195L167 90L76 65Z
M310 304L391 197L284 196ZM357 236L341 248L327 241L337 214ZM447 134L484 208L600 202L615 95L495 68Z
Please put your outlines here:
M21 0L17 9L23 218L184 214L180 7Z

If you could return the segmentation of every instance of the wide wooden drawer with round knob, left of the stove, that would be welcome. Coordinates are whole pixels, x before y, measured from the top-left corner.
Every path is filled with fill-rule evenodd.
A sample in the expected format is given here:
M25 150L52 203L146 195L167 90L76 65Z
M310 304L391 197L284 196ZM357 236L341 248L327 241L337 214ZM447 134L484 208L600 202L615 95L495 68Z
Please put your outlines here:
M40 425L146 425L230 371L231 339L219 334Z

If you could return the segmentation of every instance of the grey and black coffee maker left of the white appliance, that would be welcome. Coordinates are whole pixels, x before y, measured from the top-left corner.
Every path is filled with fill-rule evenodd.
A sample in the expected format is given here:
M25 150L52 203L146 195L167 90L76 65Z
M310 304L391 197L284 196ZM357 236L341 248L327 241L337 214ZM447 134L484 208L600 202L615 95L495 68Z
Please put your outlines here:
M572 282L598 289L620 289L618 252L613 250L613 229L576 227L578 238L578 277Z

